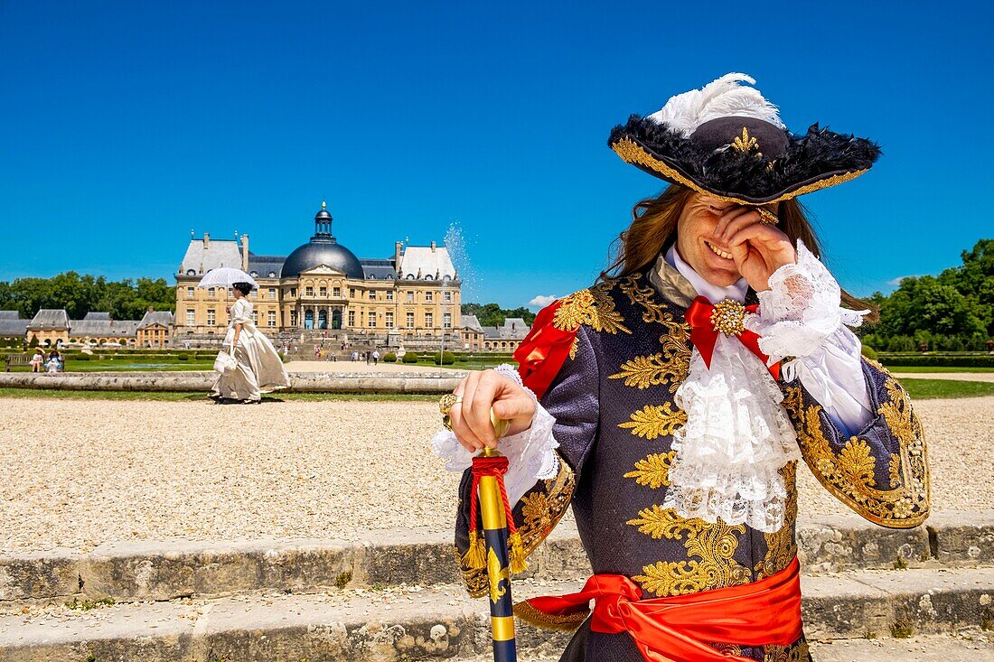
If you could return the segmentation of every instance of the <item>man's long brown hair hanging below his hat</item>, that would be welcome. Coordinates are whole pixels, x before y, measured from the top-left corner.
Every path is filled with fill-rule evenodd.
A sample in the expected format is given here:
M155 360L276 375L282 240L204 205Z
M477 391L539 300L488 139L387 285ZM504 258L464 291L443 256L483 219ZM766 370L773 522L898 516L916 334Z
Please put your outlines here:
M608 249L611 264L600 272L597 282L631 275L654 262L660 250L676 240L677 221L695 193L689 187L671 184L660 195L638 201L631 210L631 225L611 242ZM816 257L821 257L821 243L808 221L804 205L793 198L783 200L777 216L780 222L776 227L790 239L791 244L796 246L799 239ZM866 321L876 321L876 308L846 290L842 290L842 303L856 310L871 309Z

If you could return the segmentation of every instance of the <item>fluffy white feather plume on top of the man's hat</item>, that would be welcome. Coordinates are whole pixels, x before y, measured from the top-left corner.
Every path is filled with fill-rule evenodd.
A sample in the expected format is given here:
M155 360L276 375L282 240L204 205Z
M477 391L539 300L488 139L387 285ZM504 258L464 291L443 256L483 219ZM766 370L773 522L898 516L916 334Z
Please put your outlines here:
M785 128L775 105L755 87L739 83L755 84L755 80L745 74L726 74L700 89L671 97L647 119L678 131L685 138L704 122L718 117L752 117Z

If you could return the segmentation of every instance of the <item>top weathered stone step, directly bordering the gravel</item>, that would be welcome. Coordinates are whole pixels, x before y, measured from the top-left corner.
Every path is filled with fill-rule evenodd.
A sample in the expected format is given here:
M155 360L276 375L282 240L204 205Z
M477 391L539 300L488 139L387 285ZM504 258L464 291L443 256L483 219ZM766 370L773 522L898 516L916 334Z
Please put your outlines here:
M355 542L114 543L87 554L0 557L0 604L74 596L117 602L254 590L458 583L447 533L389 531ZM932 516L924 527L884 529L856 515L802 518L804 573L994 565L994 512ZM580 579L589 566L576 526L563 522L529 560L524 578Z

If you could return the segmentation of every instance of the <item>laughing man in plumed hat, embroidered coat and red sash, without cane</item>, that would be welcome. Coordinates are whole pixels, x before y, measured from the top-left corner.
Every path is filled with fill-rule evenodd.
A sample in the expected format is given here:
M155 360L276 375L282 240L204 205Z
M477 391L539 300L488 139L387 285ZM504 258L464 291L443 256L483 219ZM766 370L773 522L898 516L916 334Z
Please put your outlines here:
M809 660L798 459L872 522L928 515L908 394L861 356L847 325L867 311L842 307L795 200L865 173L879 148L817 124L792 134L744 83L729 74L612 130L624 161L670 183L636 206L618 273L540 311L517 369L443 398L432 441L465 471L455 553L471 594L488 586L476 451L508 458L512 570L573 506L593 576L515 608L577 630L563 660ZM491 408L511 421L499 442Z

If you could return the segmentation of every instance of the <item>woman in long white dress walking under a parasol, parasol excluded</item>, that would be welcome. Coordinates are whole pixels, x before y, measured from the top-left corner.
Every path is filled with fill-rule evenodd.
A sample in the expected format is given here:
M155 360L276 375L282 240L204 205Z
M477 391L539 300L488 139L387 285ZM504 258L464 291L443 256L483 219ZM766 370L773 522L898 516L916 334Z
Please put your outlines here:
M252 306L248 300L251 285L237 282L232 287L236 300L231 308L225 347L229 351L235 349L239 365L235 370L218 376L211 399L222 403L257 405L261 402L263 393L289 387L290 378L276 348L252 322Z

